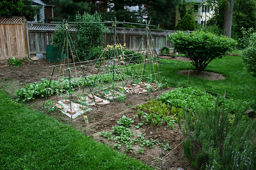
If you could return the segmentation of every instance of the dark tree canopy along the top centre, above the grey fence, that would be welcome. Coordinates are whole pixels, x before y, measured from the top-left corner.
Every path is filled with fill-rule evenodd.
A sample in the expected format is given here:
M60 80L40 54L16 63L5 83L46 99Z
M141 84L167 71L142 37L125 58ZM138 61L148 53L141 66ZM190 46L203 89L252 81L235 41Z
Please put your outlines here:
M103 20L116 20L125 22L145 22L158 25L172 25L172 12L176 10L179 0L52 0L60 5L60 13L63 18L70 20L75 18L77 11L90 14L98 11ZM83 7L83 8L82 8ZM82 11L83 10L83 11Z

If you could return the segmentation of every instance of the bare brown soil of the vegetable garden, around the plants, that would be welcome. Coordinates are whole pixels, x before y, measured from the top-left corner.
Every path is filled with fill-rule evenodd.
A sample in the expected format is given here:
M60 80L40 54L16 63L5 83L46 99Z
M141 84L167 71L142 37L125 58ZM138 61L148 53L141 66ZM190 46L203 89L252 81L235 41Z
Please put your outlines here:
M184 57L176 57L175 59L185 60ZM13 96L15 94L15 90L22 88L22 85L40 81L41 78L49 78L53 68L49 66L54 65L53 63L47 62L45 59L38 61L23 60L22 64L23 65L20 67L11 67L7 62L0 65L0 90L4 90L11 97L15 97ZM173 89L156 90L155 92L145 92L138 95L127 94L125 101L122 103L115 99L109 104L98 108L90 106L92 111L90 111L90 113L86 113L89 124L85 124L83 115L80 115L71 121L69 117L63 115L60 111L49 112L47 109L42 111L47 115L55 117L60 122L68 124L74 129L83 132L84 135L91 136L96 141L106 143L112 147L114 147L113 145L115 143L113 141L108 141L106 138L100 138L99 132L111 132L113 129L112 127L118 125L117 121L125 115L126 117L134 120L134 123L132 123L133 126L131 127L131 131L135 132L134 138L142 132L143 134L146 134L145 139L147 140L152 138L157 139L158 142L165 143L165 140L167 139L170 141L169 144L171 149L166 152L154 145L154 147L150 149L143 148L145 151L141 154L137 153L138 150L136 150L139 145L134 145L135 149L132 152L126 152L125 146L122 146L120 152L125 152L127 155L141 160L145 164L154 168L161 167L162 165L162 169L177 169L178 167L182 169L194 169L184 156L182 146L184 137L182 136L182 131L180 130L179 125L175 124L175 129L167 128L164 124L158 125L157 127L144 124L140 129L136 129L134 127L134 125L138 125L138 123L143 122L143 118L139 120L137 116L138 111L133 107L137 104L145 103L149 99L157 99L157 96L170 90ZM33 110L39 111L41 110L43 103L44 99L35 99L34 101L26 103L26 105ZM159 160L161 157L163 157L162 162Z

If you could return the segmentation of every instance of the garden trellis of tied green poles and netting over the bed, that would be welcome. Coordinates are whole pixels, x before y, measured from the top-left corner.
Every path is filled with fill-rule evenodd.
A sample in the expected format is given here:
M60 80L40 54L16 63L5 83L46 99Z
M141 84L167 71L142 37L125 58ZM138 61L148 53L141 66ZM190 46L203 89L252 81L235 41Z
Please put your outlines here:
M149 29L152 25L143 24L146 26L146 30L138 49L136 52L127 53L125 44L121 45L116 35L116 24L124 24L125 22L115 20L111 22L58 23L64 25L65 28L62 45L58 48L58 56L61 57L56 57L46 93L56 94L57 101L61 99L56 107L63 113L68 112L71 120L87 111L88 100L91 101L90 104L98 107L101 104L109 103L108 99L116 99L118 96L125 95L124 92L138 94L157 89L157 82L161 81L163 71ZM68 24L76 23L112 24L108 42L113 41L113 45L106 45L98 59L82 62L77 55L70 32L68 32ZM147 48L142 51L143 43L146 43ZM78 62L74 62L75 60ZM58 71L57 74L56 71ZM52 83L55 82L52 80L58 80L58 83ZM76 87L78 90L74 90ZM123 90L123 93L120 94L118 90ZM99 101L100 98L96 95L107 99ZM47 95L45 101L46 97ZM76 103L72 101L76 101ZM69 106L63 108L65 102L69 102ZM77 105L79 109L75 110L73 107L77 103L79 103ZM73 113L74 115L72 115Z

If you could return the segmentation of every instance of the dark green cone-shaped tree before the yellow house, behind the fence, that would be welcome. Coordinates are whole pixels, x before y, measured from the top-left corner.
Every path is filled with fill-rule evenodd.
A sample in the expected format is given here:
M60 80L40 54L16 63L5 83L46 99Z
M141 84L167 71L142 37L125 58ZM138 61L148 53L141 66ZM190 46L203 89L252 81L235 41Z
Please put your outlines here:
M192 15L186 13L180 22L175 27L175 30L193 31L196 28L196 23Z

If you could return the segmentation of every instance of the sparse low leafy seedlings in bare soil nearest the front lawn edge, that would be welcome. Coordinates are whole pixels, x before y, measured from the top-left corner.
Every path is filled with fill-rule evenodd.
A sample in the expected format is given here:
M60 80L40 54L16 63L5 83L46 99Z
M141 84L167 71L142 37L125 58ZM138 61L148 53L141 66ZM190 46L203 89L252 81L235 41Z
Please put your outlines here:
M134 132L131 132L130 127L132 126L132 123L134 123L134 120L132 118L125 117L125 115L120 118L119 121L117 121L118 125L116 125L113 128L113 132L105 132L101 131L100 136L102 138L107 138L109 141L115 141L115 148L122 148L122 145L125 145L125 148L127 152L132 152L134 150L134 145L140 145L141 148L138 148L138 153L143 153L143 148L152 148L154 145L157 145L159 147L163 147L164 150L168 151L170 150L170 145L168 140L165 140L164 143L158 143L157 139L154 140L150 138L150 140L147 140L145 138L146 134L143 134L140 132L140 134L137 136L137 138L134 138ZM135 127L140 127L140 125L137 125Z

